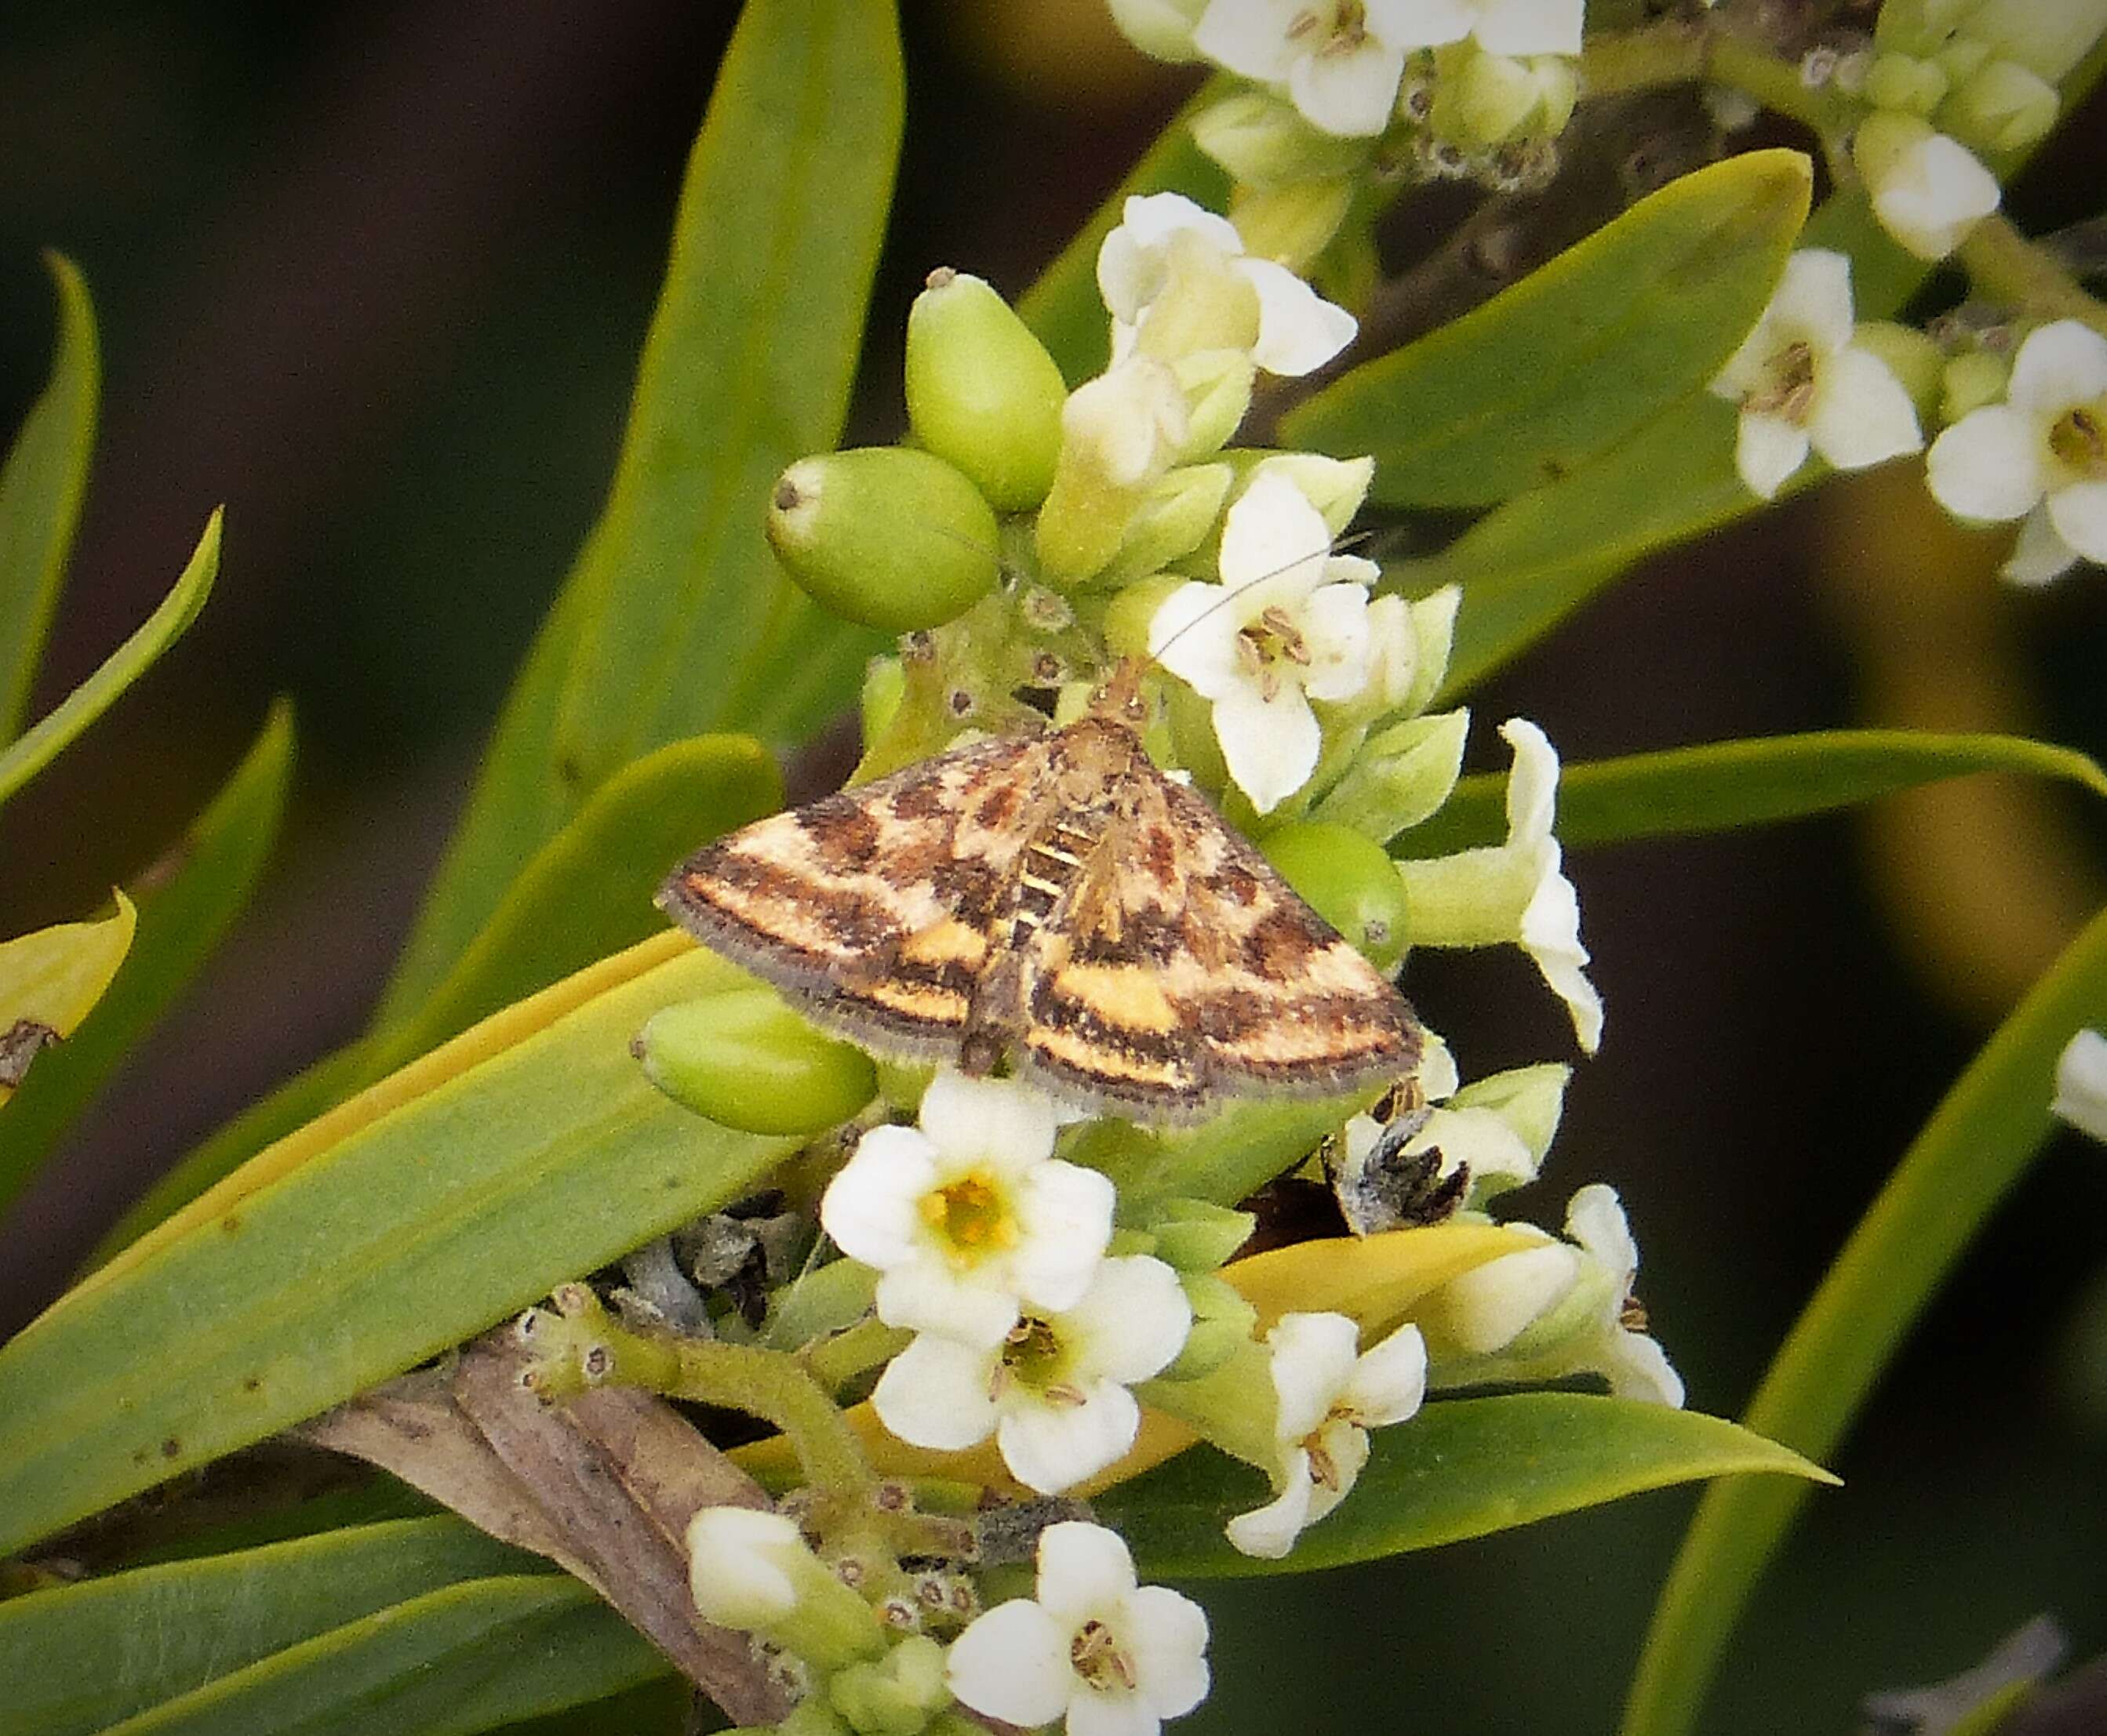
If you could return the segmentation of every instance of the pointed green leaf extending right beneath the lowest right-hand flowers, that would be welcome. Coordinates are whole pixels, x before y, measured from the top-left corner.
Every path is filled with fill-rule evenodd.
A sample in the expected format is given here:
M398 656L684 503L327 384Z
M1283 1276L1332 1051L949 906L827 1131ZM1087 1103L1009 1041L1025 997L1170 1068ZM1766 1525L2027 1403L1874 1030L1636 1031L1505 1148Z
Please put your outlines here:
M1235 1578L1378 1561L1698 1477L1835 1481L1715 1416L1582 1393L1445 1399L1376 1431L1370 1447L1353 1496L1285 1561L1228 1546L1222 1521L1271 1494L1256 1471L1216 1452L1180 1454L1091 1504L1134 1546L1144 1576Z

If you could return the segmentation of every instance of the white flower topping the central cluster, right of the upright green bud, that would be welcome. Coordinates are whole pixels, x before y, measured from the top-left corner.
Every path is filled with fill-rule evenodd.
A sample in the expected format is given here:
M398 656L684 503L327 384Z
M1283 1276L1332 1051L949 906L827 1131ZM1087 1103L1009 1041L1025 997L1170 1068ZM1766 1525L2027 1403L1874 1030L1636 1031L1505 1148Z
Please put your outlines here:
M1271 259L1254 259L1226 217L1180 194L1136 194L1123 221L1098 249L1098 291L1112 314L1112 360L1134 354L1142 327L1161 310L1184 348L1247 348L1266 373L1302 375L1330 362L1359 329L1353 314L1317 295ZM1224 297L1222 291L1233 291ZM1256 299L1256 337L1247 324L1222 327L1222 301ZM1176 354L1163 356L1176 360Z

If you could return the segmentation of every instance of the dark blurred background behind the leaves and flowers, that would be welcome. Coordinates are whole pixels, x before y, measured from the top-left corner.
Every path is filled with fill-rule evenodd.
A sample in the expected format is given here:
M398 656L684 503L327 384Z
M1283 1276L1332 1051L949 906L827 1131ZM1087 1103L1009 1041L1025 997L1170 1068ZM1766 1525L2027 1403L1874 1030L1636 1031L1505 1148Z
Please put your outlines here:
M19 4L0 15L0 419L48 364L40 246L103 333L95 476L38 710L225 501L183 647L0 822L0 933L82 914L299 714L278 864L4 1226L0 1329L200 1133L352 1037L605 487L729 4ZM900 198L851 438L900 426L921 276L1009 293L1186 82L1098 0L908 6ZM2092 215L2099 110L2014 190ZM1890 721L2107 752L2107 577L2042 596L1905 476L1654 560L1473 695L1568 758ZM1983 1032L2107 889L2075 801L1993 780L1860 820L1578 857L1610 1022L1536 1216L1610 1180L1696 1407L1770 1346ZM1469 1074L1566 1053L1515 959L1414 965ZM1715 1732L1848 1730L2048 1610L2107 1645L2107 1155L2065 1136L1972 1251L1742 1629ZM1216 1586L1203 1732L1601 1732L1692 1496L1374 1570Z

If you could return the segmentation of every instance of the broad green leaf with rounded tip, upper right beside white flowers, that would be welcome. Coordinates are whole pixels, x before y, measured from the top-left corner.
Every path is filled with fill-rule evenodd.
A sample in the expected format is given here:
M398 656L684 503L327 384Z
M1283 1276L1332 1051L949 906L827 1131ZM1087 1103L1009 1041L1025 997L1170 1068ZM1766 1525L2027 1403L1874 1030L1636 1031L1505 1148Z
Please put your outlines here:
M1719 373L1785 270L1810 188L1789 150L1681 175L1336 379L1281 421L1283 445L1372 453L1384 506L1483 506L1555 482Z

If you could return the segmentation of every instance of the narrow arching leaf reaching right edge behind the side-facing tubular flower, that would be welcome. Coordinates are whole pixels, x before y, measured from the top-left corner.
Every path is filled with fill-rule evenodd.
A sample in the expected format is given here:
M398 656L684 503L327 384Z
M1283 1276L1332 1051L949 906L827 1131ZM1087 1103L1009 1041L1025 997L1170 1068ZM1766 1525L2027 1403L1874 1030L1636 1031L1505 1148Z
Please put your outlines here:
M1559 839L1612 845L1770 826L1976 771L2063 777L2107 796L2107 771L2052 742L1829 729L1570 765L1559 775ZM1441 855L1498 843L1504 830L1507 775L1479 773L1464 777L1433 820L1401 834L1397 849Z

